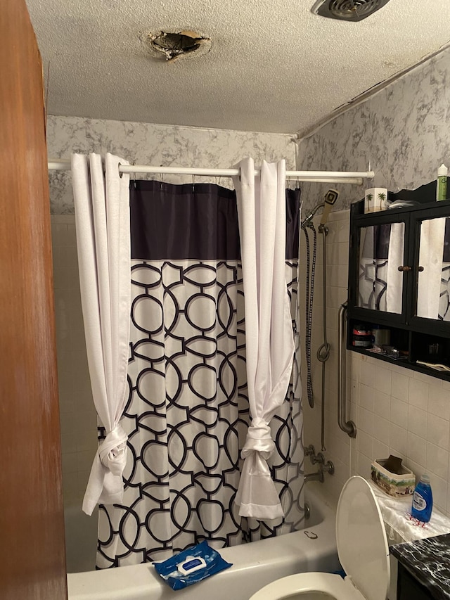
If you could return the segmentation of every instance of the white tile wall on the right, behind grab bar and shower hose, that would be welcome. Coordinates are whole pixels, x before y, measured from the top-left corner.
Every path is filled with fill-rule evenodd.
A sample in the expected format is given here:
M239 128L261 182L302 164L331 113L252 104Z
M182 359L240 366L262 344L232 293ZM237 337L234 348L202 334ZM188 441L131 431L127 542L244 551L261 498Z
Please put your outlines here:
M335 285L327 286L327 306L331 315L327 319L329 340L337 333L337 315L340 302L347 298L348 267L348 226L349 211L332 212L328 224L330 234L327 238L328 264L337 263ZM302 234L302 253L304 252ZM321 239L319 238L319 243ZM345 248L347 252L345 252ZM319 253L316 278L321 280L322 260ZM328 274L328 272L327 272ZM333 276L332 276L333 277ZM330 278L331 279L331 278ZM334 283L334 280L333 280ZM318 286L319 289L319 286ZM319 292L316 292L319 294ZM304 260L300 274L300 323L304 319ZM322 301L317 298L314 307L314 344L321 339ZM320 344L321 342L319 342ZM335 345L333 347L335 350ZM337 369L335 352L326 365L326 369ZM316 407L309 408L304 392L304 443L314 444L316 451L320 447L321 418L321 372L314 366L314 390ZM306 381L306 364L302 356L302 382ZM347 418L355 421L358 433L356 439L350 438L338 428L335 378L326 378L326 461L331 460L337 466L335 475L326 475L324 486L330 496L337 500L343 483L352 474L370 477L371 462L375 458L387 458L396 454L404 459L416 475L425 471L430 474L435 506L450 516L448 497L450 479L450 383L434 377L409 371L395 364L387 364L372 357L347 352ZM305 461L306 471L315 470L315 466Z

